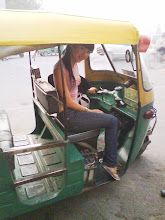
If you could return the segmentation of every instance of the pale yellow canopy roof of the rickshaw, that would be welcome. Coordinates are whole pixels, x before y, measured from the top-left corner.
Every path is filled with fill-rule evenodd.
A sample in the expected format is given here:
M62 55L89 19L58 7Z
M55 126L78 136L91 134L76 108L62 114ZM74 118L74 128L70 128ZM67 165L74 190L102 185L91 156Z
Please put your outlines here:
M130 22L53 12L0 11L0 46L68 43L132 44L139 33Z

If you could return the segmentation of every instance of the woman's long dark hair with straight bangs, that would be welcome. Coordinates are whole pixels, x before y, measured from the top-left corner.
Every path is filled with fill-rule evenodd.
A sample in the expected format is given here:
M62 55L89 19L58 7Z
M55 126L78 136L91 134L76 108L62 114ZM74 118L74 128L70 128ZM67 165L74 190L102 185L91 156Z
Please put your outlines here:
M83 46L87 48L90 52L93 52L94 50L94 44L72 44L72 46ZM62 61L65 65L65 68L69 71L69 78L72 85L72 82L73 83L75 82L75 77L72 70L70 55L71 55L71 44L68 44L68 46L65 49L65 54L62 58Z

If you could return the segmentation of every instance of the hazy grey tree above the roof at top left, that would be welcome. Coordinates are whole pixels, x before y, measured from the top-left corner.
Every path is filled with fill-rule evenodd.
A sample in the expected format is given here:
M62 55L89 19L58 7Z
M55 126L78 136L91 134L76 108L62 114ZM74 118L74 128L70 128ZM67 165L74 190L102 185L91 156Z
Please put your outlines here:
M37 10L43 0L6 0L7 9Z

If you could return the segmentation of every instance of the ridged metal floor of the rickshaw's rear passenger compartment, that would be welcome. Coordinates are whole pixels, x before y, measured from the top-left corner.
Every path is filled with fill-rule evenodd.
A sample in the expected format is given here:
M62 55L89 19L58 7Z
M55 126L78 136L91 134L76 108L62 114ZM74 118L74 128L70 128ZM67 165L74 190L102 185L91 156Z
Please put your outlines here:
M14 146L27 146L48 142L37 135L14 136ZM50 140L51 141L51 140ZM64 168L64 156L60 148L49 148L39 151L20 153L15 155L15 180L27 179L35 174ZM17 187L17 193L23 200L35 200L57 193L64 185L64 175L44 178L39 181L26 183Z

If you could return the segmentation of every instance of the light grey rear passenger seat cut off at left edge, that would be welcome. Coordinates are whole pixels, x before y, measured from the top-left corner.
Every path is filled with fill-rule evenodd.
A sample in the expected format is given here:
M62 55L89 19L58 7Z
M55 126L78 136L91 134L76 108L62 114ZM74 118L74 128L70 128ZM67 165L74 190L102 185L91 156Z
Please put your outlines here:
M0 149L4 151L13 146L13 135L7 113L4 110L0 110ZM6 159L11 170L14 170L14 156L7 156Z

